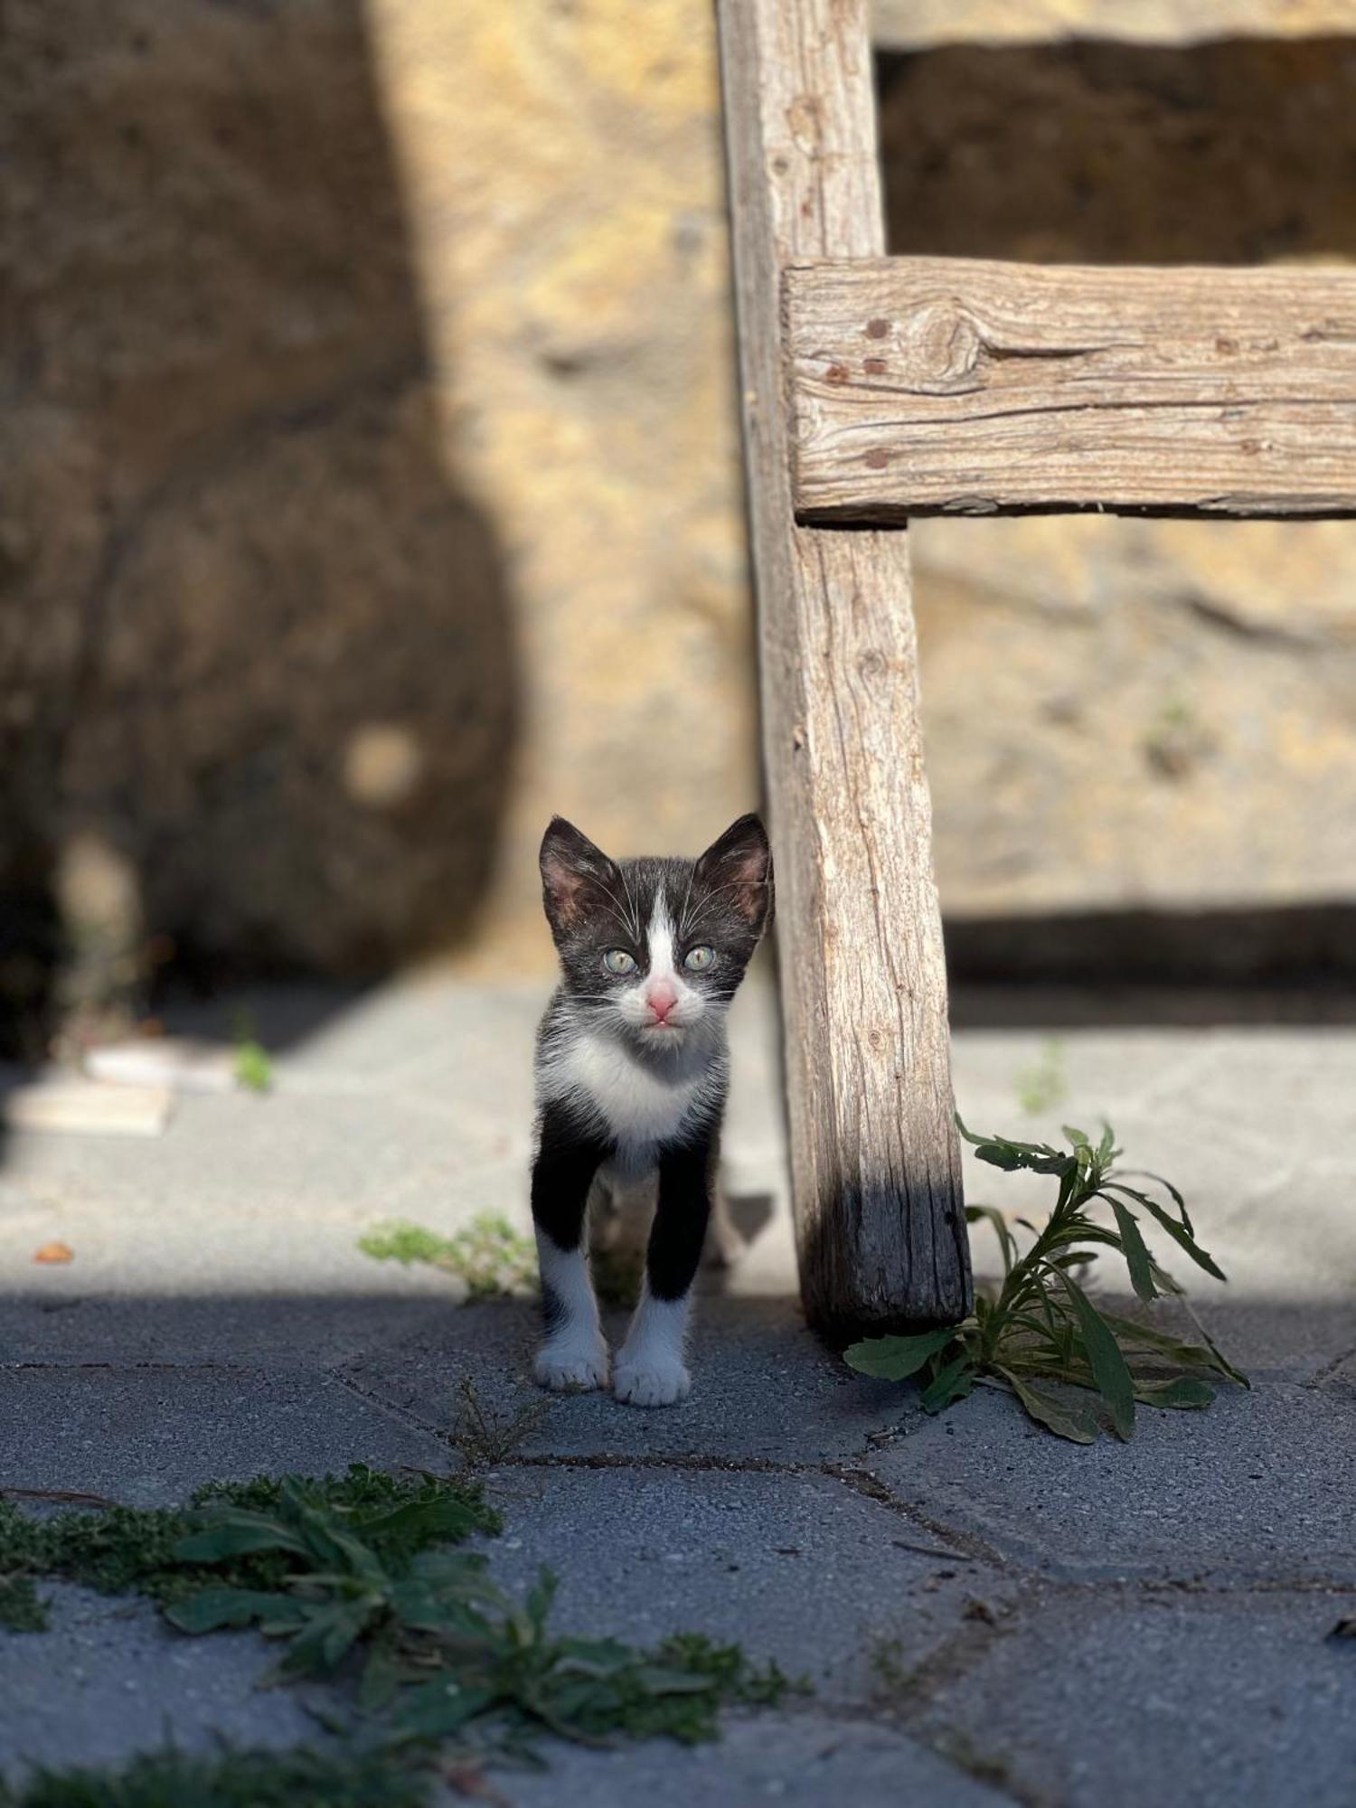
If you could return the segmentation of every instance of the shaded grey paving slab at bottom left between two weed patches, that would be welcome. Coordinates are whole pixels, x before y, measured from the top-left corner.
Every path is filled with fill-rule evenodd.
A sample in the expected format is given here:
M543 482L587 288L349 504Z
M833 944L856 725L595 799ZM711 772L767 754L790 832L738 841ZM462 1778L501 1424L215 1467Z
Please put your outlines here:
M188 1750L315 1743L289 1689L260 1689L273 1653L253 1633L184 1638L148 1602L43 1587L45 1633L0 1633L0 1770L121 1765L172 1734ZM190 1808L190 1804L184 1804Z

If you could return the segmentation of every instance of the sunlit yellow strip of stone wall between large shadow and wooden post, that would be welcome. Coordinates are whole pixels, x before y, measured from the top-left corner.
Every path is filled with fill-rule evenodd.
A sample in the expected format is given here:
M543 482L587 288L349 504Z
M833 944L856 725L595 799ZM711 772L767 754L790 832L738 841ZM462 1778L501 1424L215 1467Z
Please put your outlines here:
M448 454L517 622L494 962L542 947L550 812L696 852L758 805L714 42L692 0L372 0L371 31Z

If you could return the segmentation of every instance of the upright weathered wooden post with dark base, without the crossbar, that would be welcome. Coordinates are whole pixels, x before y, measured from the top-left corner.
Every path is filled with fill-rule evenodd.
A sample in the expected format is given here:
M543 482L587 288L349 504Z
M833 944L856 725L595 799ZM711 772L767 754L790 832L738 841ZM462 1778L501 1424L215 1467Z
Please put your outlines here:
M902 530L799 528L781 275L880 257L862 0L718 0L801 1293L832 1336L971 1307Z

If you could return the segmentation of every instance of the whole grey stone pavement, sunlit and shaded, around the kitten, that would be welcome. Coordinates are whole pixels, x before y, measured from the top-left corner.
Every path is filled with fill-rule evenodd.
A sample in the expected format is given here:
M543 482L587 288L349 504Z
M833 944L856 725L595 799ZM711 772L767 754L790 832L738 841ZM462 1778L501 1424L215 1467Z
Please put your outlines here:
M224 1032L233 1005L184 1027ZM11 1135L0 1484L172 1502L260 1468L447 1466L463 1381L504 1419L535 1405L528 1302L456 1304L448 1276L374 1264L356 1237L483 1210L526 1228L539 1005L439 975L260 994L268 1097L186 1097L157 1139ZM772 1050L750 991L727 1168L754 1237L703 1300L691 1401L542 1401L488 1470L490 1549L510 1584L555 1568L577 1629L738 1638L814 1694L700 1750L551 1750L503 1794L1351 1808L1356 1643L1325 1634L1356 1611L1356 1029L958 1032L971 1125L1108 1114L1231 1276L1193 1291L1253 1392L1141 1408L1132 1445L1092 1448L989 1392L928 1419L805 1331ZM984 1168L967 1184L1040 1197ZM74 1260L34 1266L52 1238ZM251 1634L183 1640L143 1606L52 1593L49 1633L0 1634L11 1766L116 1759L166 1728L313 1736L302 1703L253 1687Z

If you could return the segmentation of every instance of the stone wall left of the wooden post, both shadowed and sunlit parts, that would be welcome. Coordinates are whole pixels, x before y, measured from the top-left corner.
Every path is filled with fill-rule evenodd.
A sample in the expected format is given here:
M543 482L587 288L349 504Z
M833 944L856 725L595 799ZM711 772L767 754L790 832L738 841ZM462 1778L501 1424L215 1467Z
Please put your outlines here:
M551 810L756 803L700 5L14 0L0 132L11 956L542 962Z

